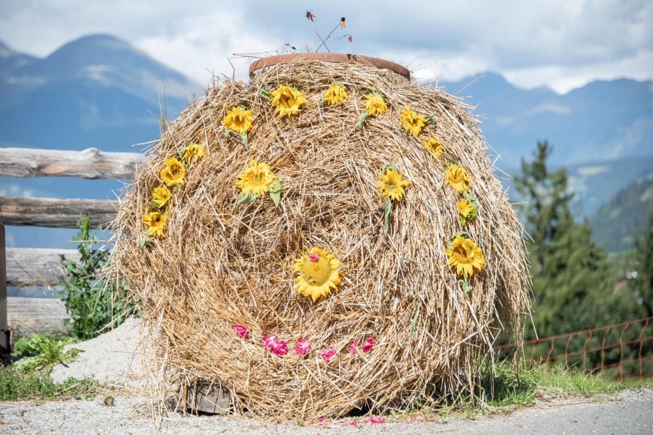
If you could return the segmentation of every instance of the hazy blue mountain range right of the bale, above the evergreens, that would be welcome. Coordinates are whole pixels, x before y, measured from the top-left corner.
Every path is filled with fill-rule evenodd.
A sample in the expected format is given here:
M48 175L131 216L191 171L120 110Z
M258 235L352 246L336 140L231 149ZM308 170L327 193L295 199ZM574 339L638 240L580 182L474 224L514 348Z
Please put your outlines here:
M556 149L552 164L565 166L653 156L653 82L597 81L564 95L519 89L491 72L440 84L477 106L473 113L482 115L483 134L505 166L517 166L542 139Z

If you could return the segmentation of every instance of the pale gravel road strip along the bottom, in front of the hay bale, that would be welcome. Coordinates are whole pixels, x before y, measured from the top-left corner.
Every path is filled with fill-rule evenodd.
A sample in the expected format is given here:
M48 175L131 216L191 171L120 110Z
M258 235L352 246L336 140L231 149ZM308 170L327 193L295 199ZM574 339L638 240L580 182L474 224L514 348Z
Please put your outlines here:
M264 423L238 417L183 417L170 413L153 421L146 402L138 397L104 397L91 402L5 402L0 407L0 432L11 434L648 434L653 433L653 391L626 391L600 402L558 400L510 415L433 421L398 421L344 427L328 422L311 427Z

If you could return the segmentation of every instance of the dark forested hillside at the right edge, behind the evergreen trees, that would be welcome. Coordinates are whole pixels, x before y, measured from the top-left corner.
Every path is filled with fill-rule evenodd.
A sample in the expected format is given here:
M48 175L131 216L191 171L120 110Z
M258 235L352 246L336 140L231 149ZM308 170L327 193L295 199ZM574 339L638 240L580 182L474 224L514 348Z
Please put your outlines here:
M601 206L590 220L599 245L611 252L631 249L653 207L653 176L631 183Z

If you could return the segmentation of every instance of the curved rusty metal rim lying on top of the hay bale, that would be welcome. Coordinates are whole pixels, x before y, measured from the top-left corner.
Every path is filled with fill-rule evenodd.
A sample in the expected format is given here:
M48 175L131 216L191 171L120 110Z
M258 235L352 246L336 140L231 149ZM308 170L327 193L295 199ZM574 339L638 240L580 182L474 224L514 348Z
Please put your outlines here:
M279 65L280 63L290 63L296 59L308 59L311 61L331 63L360 63L363 65L374 65L374 67L377 68L385 68L392 72L396 72L400 76L404 76L410 80L410 71L408 68L399 65L398 63L379 59L378 57L345 53L291 53L263 57L263 59L254 61L251 63L251 65L249 65L249 77L252 77L254 72L260 70L261 68L272 67L273 65Z

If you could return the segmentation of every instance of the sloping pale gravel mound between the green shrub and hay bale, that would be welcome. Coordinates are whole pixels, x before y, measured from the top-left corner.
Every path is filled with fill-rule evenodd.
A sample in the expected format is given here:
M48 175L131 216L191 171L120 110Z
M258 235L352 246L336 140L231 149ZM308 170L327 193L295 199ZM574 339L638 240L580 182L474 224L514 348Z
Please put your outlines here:
M129 318L103 335L66 346L65 350L84 352L69 365L57 364L50 374L56 382L95 376L100 382L130 383L142 377L140 355L136 353L139 336L140 320Z

